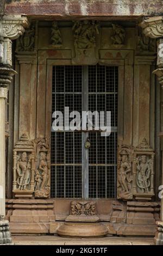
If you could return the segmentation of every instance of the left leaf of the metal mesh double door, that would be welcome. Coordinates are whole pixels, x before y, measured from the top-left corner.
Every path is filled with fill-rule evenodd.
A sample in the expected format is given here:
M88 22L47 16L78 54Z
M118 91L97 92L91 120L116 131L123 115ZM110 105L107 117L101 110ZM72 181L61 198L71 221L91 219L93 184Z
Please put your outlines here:
M52 112L82 112L82 66L53 68ZM82 198L82 133L52 132L51 197Z

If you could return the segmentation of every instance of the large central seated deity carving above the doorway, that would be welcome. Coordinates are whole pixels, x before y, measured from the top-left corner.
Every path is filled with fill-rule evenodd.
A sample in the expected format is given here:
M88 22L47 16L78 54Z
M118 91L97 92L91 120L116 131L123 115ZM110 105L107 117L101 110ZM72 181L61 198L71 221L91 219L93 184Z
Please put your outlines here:
M76 21L74 31L74 46L77 49L89 49L96 46L96 33L99 34L98 24L95 21Z

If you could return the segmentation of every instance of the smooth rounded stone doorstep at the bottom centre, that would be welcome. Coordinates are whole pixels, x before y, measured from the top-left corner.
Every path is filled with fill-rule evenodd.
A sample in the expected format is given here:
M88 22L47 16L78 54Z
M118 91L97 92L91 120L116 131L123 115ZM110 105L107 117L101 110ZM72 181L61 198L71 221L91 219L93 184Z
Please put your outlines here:
M101 237L108 234L102 223L65 222L57 229L57 234L65 237Z

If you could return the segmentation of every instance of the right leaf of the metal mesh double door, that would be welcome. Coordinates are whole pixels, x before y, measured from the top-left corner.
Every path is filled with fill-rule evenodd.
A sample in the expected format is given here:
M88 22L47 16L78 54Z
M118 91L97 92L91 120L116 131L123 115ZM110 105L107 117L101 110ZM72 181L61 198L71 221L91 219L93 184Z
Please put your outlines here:
M111 111L111 135L90 132L89 198L116 197L118 68L89 66L89 110Z

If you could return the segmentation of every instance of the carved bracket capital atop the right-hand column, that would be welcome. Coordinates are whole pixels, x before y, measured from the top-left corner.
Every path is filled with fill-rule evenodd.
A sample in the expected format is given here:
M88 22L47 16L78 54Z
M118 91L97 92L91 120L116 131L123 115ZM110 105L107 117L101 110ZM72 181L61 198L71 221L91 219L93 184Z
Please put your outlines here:
M143 20L140 24L143 33L150 38L159 38L163 36L163 16L150 17Z

